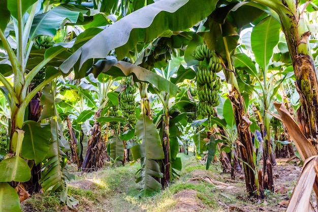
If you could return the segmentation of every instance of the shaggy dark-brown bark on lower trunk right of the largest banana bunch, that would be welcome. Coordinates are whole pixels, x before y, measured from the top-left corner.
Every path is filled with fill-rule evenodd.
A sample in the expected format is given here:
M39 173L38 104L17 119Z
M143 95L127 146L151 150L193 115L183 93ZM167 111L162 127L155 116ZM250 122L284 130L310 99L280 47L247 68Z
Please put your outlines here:
M259 182L256 181L254 174L255 165L253 163L253 144L249 130L251 122L244 111L244 99L235 88L230 90L228 97L233 106L238 138L241 142L239 147L242 154L242 161L244 162L243 167L247 195L249 197L255 196L256 198L262 198L263 192L259 190L257 186L259 185Z

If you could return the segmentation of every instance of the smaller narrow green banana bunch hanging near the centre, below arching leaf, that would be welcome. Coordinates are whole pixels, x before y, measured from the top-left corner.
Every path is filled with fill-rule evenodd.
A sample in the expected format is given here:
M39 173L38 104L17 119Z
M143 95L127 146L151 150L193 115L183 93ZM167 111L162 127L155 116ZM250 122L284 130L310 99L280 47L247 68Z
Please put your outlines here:
M122 116L126 119L129 125L134 126L136 124L136 102L135 93L137 88L134 86L132 76L124 77L122 79L124 85L119 94L119 106L122 111Z

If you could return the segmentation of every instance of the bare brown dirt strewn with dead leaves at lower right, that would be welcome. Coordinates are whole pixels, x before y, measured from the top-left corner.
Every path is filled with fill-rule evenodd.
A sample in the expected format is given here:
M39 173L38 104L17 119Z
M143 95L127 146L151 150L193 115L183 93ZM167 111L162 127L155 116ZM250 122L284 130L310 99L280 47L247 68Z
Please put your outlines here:
M205 170L196 170L190 179L193 184L205 181L215 185L215 192L219 197L217 203L224 211L285 211L289 204L297 179L301 174L302 166L297 165L299 161L288 159L277 159L277 165L273 167L275 192L265 191L265 199L248 199L246 196L245 181L243 175L238 175L236 180L231 180L226 174L207 176ZM204 204L196 196L196 191L185 190L174 195L177 200L175 210L205 211ZM314 203L315 204L315 203Z

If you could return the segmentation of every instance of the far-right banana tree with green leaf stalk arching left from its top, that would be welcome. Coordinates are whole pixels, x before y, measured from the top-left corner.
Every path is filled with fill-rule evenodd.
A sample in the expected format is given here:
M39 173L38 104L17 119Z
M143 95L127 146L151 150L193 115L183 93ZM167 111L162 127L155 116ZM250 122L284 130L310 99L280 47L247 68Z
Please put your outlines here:
M291 55L301 107L298 122L307 138L318 136L317 76L309 45L310 32L304 20L304 9L315 11L314 3L301 1L256 0L255 7L263 5L266 11L280 21ZM310 5L310 6L309 6ZM302 9L304 8L304 9Z

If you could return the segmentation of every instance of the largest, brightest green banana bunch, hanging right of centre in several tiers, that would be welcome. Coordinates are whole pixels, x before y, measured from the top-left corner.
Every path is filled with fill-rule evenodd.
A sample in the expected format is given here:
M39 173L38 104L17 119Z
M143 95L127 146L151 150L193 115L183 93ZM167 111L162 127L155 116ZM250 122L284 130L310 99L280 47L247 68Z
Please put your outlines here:
M196 77L200 101L198 111L202 116L213 116L214 107L219 104L217 92L221 80L216 73L222 70L221 59L205 43L198 45L192 56L199 61L206 59L206 65L199 63Z

